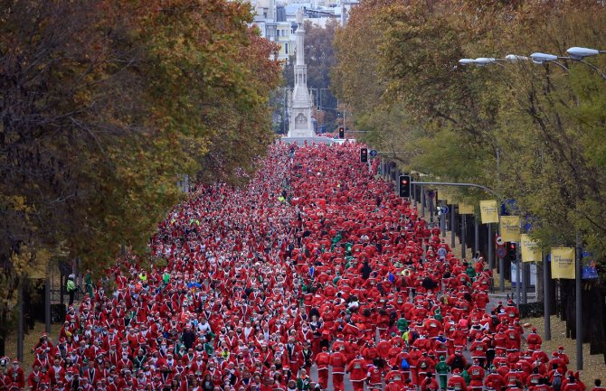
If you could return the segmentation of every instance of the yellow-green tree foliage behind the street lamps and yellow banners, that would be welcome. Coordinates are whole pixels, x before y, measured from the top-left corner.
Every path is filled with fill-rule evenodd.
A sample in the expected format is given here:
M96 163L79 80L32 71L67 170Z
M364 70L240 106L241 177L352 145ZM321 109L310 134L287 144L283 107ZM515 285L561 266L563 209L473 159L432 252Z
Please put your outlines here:
M530 234L544 249L573 246L579 232L601 275L585 287L603 295L606 89L600 72L569 60L562 70L532 61L461 66L459 59L535 51L567 57L572 46L603 50L605 32L606 6L590 0L365 0L336 33L333 79L338 98L354 107L357 126L369 131L366 140L402 152L394 157L403 170L481 183L502 200L516 200L516 213L532 222ZM605 57L587 61L603 72ZM486 194L455 197L470 202ZM572 294L563 301L567 316L569 299ZM606 352L603 323L584 322L600 352Z

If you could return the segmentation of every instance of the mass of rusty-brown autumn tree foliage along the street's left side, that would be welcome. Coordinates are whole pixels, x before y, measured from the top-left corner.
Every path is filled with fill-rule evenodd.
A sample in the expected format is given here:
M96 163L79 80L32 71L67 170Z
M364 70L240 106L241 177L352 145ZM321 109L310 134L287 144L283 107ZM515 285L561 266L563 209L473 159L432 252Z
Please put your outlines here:
M181 175L251 172L272 141L280 67L240 2L0 4L5 327L14 288L40 261L79 256L100 270L120 245L146 254L184 197Z

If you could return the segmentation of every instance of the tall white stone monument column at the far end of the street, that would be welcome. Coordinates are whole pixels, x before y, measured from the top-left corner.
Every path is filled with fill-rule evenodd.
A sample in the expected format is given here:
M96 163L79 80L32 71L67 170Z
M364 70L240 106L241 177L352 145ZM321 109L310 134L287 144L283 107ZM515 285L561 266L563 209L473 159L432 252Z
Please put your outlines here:
M313 137L311 121L312 100L308 91L308 66L305 65L305 28L303 10L297 11L297 61L295 62L295 88L290 101L289 137Z

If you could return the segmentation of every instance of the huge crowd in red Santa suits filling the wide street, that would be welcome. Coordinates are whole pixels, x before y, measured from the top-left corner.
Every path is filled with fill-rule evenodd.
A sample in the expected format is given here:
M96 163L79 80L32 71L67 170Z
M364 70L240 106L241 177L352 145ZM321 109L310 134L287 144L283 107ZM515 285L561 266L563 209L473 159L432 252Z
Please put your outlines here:
M198 187L154 266L120 258L0 391L584 391L358 148L276 144L245 188Z

